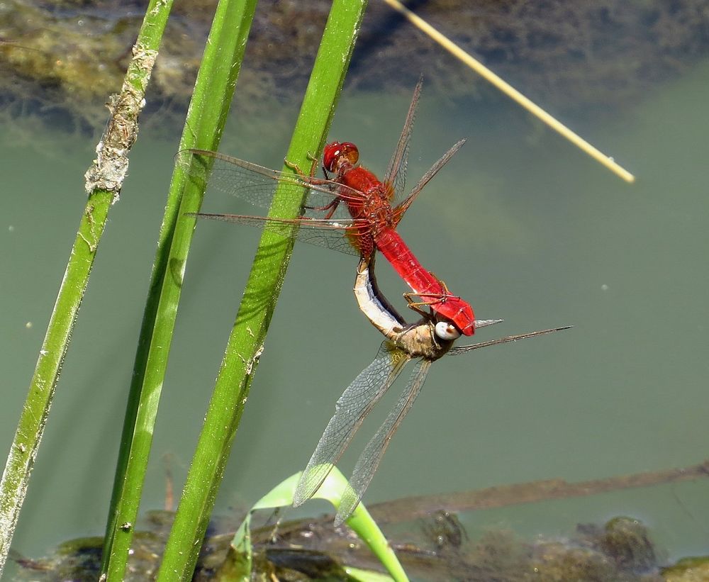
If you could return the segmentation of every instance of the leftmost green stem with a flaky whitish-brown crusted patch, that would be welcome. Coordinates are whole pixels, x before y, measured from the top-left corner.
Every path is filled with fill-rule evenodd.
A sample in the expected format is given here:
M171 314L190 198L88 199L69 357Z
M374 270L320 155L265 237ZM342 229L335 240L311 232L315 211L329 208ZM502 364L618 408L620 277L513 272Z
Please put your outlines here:
M111 121L94 165L86 172L89 200L69 254L64 279L50 317L30 389L0 481L0 576L4 569L30 472L48 419L69 340L104 233L111 204L118 199L128 169L128 151L138 135L138 114L157 56L172 0L152 0L133 47L121 94L109 103Z

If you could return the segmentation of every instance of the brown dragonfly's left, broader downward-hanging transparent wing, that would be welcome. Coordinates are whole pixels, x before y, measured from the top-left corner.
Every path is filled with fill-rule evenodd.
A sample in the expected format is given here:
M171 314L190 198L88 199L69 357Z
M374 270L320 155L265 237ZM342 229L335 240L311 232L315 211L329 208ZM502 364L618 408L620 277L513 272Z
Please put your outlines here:
M406 352L391 342L384 341L374 357L374 362L347 386L335 404L335 415L330 418L306 470L298 481L293 500L295 507L305 503L318 491L333 465L342 457L364 418L401 374L409 359L411 357Z

